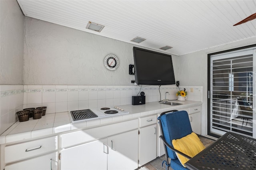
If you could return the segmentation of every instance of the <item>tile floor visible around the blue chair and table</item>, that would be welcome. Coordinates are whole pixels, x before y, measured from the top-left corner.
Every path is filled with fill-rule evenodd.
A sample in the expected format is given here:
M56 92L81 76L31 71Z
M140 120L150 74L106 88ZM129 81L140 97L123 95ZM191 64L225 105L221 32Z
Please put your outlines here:
M209 146L210 144L212 144L212 142L214 142L214 140L210 140L208 138L202 138L202 137L199 137L199 138L205 147ZM148 170L165 170L165 166L164 166L164 168L162 167L163 160L165 160L165 155L157 157L156 159L152 160L151 162L148 162L147 164L145 164L144 166L141 167L141 170L147 170L147 169ZM140 169L140 168L138 168L138 169ZM169 167L169 170L173 170L173 169L171 167Z

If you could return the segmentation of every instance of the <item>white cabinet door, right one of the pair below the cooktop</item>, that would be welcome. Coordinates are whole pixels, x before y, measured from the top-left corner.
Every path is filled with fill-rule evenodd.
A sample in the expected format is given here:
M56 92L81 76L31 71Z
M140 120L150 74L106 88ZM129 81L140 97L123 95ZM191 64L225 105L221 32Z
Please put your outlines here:
M138 168L138 129L108 137L108 170Z

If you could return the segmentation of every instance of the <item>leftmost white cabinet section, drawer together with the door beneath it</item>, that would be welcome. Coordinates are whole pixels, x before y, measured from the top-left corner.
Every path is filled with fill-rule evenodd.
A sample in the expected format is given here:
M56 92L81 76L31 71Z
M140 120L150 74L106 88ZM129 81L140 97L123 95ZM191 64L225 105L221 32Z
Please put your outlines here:
M58 137L1 146L5 170L57 170ZM2 167L1 166L1 167Z

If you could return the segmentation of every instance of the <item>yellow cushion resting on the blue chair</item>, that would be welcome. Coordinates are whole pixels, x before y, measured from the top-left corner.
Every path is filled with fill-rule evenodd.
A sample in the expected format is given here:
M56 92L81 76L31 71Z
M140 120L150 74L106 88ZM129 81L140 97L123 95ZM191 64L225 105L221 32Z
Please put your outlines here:
M205 148L205 146L202 144L202 142L194 132L188 134L187 136L184 136L183 138L172 140L172 145L175 149L190 156L191 158ZM176 153L176 155L183 166L189 160L181 154Z

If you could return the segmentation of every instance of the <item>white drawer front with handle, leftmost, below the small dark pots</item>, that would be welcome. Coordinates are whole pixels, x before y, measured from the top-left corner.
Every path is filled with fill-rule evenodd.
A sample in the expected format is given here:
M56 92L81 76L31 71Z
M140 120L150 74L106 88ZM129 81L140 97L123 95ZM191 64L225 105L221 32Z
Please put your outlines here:
M6 146L4 148L5 163L44 154L57 148L57 136Z

